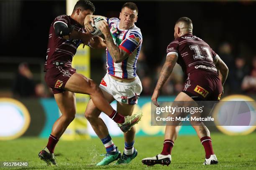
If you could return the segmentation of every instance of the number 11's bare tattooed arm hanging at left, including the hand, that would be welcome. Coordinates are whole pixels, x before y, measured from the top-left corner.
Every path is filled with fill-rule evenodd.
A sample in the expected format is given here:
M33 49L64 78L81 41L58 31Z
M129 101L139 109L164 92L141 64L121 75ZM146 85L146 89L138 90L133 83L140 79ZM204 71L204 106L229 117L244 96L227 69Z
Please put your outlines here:
M176 62L177 62L178 56L171 54L171 55L167 55L166 60L164 62L163 68L160 72L160 77L157 81L154 93L151 97L152 102L154 103L154 105L156 105L157 107L159 107L159 104L157 103L157 98L159 97L160 94L160 90L163 87L164 83L166 82L166 80L169 78L169 76L172 73L173 67L175 66Z

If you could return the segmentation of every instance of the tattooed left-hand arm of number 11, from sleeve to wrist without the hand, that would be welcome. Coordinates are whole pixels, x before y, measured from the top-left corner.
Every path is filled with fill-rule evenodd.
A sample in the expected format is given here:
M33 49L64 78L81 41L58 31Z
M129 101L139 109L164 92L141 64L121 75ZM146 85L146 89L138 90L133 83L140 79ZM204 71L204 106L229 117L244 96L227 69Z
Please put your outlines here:
M160 90L166 80L169 78L169 76L172 73L173 67L176 64L178 57L176 55L168 55L166 57L166 61L164 62L164 65L162 67L162 70L160 72L160 77L156 84L156 90Z

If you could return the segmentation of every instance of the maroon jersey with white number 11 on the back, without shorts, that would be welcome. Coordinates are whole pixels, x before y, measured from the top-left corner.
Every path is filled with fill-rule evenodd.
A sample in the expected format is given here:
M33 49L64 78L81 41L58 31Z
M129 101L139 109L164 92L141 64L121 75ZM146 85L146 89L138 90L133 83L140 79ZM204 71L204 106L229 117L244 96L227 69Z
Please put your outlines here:
M176 38L168 45L166 52L167 55L178 56L177 63L186 74L203 71L218 75L218 70L213 63L216 53L195 35L189 33Z

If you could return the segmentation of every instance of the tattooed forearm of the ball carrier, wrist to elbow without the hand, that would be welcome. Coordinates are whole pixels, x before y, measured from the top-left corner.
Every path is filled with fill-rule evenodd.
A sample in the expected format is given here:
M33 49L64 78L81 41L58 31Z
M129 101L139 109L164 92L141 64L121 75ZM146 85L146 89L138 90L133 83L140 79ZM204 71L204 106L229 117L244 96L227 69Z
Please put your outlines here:
M127 52L123 52L123 50L120 50L120 48L115 45L111 34L107 34L105 38L108 51L115 63L121 62L129 56Z

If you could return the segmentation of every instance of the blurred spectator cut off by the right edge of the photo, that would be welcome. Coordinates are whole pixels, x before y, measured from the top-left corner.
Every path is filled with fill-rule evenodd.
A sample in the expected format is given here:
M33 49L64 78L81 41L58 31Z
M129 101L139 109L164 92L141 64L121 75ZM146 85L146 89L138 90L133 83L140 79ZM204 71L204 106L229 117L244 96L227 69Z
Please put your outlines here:
M251 74L243 79L242 90L247 93L256 93L256 57L252 60Z

